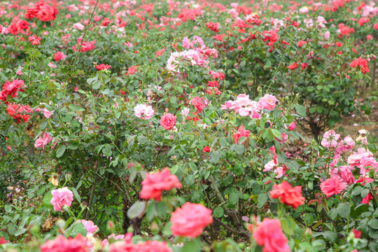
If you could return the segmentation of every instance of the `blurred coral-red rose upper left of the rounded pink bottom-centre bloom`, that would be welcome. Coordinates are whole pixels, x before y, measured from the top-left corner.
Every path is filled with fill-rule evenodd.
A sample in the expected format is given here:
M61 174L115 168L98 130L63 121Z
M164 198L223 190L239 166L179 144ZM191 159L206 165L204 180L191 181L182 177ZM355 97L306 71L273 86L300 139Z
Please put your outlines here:
M172 175L166 167L162 172L146 174L146 179L142 181L141 199L161 200L163 190L181 188L181 183L176 175Z

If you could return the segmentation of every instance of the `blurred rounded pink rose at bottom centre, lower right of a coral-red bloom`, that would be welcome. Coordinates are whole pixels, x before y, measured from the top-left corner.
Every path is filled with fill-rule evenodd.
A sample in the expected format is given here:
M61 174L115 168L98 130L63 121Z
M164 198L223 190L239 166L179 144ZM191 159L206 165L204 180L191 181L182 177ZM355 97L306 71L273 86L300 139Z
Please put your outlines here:
M213 222L211 209L202 204L186 202L172 213L172 235L195 238Z

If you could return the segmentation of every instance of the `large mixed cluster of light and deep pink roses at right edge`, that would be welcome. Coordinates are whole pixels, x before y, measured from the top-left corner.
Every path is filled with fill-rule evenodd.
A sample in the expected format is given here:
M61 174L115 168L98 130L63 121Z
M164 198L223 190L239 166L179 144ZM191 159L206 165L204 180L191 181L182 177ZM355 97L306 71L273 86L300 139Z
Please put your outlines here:
M330 163L330 179L326 179L321 183L321 191L327 197L342 193L347 185L353 183L370 183L372 179L368 178L367 174L372 169L374 172L378 171L378 162L375 160L373 154L367 149L367 132L365 130L360 130L359 134L360 136L356 140L362 141L365 147L358 148L358 153L353 152L349 155L346 161L347 165L337 167L336 165L340 161L342 153L345 151L352 151L355 142L351 137L345 137L342 141L340 135L336 134L333 130L325 132L321 145L328 148L328 151L335 153L332 157L333 160ZM361 175L357 180L352 173L356 167L360 169ZM362 203L368 204L371 199L372 195L369 193L369 195L363 199Z

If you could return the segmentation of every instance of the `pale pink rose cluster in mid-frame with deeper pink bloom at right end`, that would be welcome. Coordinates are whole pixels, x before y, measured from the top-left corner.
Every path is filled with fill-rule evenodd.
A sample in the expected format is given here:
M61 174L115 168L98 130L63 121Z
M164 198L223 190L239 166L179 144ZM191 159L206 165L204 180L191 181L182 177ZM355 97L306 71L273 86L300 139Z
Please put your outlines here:
M279 101L272 94L265 94L258 102L249 99L249 95L239 94L235 101L228 101L221 105L221 109L233 109L239 116L250 116L251 118L261 118L262 110L272 111Z

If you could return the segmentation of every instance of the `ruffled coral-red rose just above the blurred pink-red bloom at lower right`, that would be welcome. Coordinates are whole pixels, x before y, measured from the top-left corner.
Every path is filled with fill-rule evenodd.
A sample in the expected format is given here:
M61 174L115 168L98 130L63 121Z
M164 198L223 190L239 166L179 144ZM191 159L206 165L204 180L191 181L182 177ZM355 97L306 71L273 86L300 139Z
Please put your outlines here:
M278 199L281 203L297 209L304 204L304 197L301 193L302 186L295 186L292 188L287 181L283 181L281 185L274 185L270 195L273 199Z

